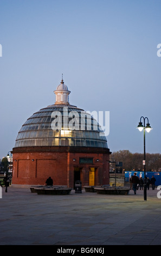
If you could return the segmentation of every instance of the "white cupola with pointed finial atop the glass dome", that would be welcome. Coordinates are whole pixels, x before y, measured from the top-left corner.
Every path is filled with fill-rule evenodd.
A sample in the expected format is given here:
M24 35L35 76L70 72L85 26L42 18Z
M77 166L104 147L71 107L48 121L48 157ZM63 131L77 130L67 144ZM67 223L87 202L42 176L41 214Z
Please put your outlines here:
M63 82L63 78L59 86L57 86L54 93L56 95L55 104L66 104L66 105L69 104L70 91L68 90L68 87L66 86L66 84Z

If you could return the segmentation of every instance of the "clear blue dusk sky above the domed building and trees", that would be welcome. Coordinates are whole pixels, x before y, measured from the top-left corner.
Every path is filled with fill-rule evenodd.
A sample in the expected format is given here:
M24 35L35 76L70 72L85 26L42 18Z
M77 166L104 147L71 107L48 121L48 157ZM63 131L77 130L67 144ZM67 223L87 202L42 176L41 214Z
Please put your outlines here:
M161 153L160 0L1 0L0 158L25 121L55 103L63 80L71 105L110 111L108 148L143 153L140 117Z

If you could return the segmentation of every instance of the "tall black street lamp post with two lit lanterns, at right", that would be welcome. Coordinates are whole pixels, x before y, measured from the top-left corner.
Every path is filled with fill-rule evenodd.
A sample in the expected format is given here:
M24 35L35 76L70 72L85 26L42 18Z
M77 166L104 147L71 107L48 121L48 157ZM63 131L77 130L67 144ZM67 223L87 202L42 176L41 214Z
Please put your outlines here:
M144 120L144 126L143 126L143 123L141 122L141 119L143 118ZM147 119L147 124L145 126L145 119ZM141 117L140 118L140 121L139 121L139 124L137 126L137 129L141 132L144 130L144 160L143 160L143 165L144 165L144 200L147 199L147 195L146 195L146 183L145 183L145 169L146 169L146 162L145 162L145 130L147 132L150 132L152 130L150 124L149 124L149 119L147 117Z

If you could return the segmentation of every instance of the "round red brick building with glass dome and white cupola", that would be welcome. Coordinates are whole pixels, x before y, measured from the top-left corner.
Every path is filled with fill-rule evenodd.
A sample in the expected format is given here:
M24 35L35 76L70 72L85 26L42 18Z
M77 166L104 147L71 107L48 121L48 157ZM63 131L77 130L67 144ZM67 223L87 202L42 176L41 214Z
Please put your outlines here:
M54 105L40 109L22 125L12 149L12 186L54 185L74 187L109 184L110 149L97 121L69 104L63 82L54 91Z

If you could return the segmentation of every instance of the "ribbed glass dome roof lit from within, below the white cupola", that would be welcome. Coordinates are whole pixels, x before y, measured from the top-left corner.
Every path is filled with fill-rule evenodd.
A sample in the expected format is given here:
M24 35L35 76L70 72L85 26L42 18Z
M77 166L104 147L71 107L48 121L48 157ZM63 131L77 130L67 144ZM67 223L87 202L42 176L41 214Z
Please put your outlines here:
M64 111L66 107L66 112ZM79 115L79 130L71 129L69 123L72 117L69 113L76 112ZM64 118L64 113L67 114ZM52 122L56 120L57 113L61 113L61 129L54 130ZM86 115L85 124L82 128L81 117ZM88 122L89 121L89 122ZM91 127L88 127L91 121ZM70 128L70 129L69 129ZM101 136L100 136L101 133ZM96 147L108 148L107 140L102 133L100 125L92 115L71 105L51 105L34 113L22 125L16 138L17 147L38 147L38 146L75 146L75 147Z

